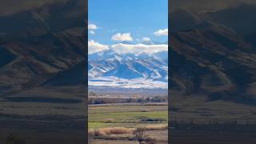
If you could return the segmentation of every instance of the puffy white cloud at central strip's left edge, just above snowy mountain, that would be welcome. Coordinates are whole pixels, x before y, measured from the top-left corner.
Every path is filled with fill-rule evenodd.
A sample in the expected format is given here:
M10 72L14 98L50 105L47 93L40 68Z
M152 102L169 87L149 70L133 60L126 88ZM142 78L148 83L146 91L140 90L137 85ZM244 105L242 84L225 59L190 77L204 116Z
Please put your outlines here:
M94 40L90 40L88 42L88 52L89 54L94 54L94 53L98 53L104 50L109 50L109 46L107 45L102 45L98 42L94 42Z

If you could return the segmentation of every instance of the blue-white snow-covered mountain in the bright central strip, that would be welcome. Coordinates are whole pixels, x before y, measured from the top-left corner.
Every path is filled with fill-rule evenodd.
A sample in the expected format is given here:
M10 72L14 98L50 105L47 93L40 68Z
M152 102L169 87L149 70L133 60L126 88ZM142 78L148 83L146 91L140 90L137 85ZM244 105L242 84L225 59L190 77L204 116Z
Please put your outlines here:
M89 86L167 88L167 51L155 54L89 55Z

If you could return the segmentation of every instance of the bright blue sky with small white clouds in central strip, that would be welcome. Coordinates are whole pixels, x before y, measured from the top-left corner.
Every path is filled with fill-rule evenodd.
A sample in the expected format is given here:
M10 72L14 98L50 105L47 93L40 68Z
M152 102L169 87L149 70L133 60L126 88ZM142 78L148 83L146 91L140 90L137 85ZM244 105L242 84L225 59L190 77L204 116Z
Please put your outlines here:
M143 41L168 41L168 0L89 0L88 18L89 51L90 46L107 50L121 42L146 50Z

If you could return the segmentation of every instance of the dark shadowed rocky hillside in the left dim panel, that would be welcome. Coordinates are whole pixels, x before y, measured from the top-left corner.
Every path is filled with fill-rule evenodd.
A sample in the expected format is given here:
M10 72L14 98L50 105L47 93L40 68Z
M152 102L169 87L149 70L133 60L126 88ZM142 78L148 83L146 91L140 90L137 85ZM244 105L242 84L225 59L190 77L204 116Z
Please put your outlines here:
M76 0L0 17L0 95L49 85L51 78L85 64L80 4Z

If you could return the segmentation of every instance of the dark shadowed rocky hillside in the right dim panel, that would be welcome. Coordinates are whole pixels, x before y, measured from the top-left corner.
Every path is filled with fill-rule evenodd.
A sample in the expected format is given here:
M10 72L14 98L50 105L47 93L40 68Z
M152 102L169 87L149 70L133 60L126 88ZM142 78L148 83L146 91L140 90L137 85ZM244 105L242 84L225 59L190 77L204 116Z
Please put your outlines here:
M251 43L256 39L252 37L254 31L249 34L246 28L229 25L233 13L244 7L233 9L200 14L177 10L171 14L171 90L203 94L209 101L256 104L256 50ZM221 18L216 18L217 14ZM222 17L226 21L222 22Z

